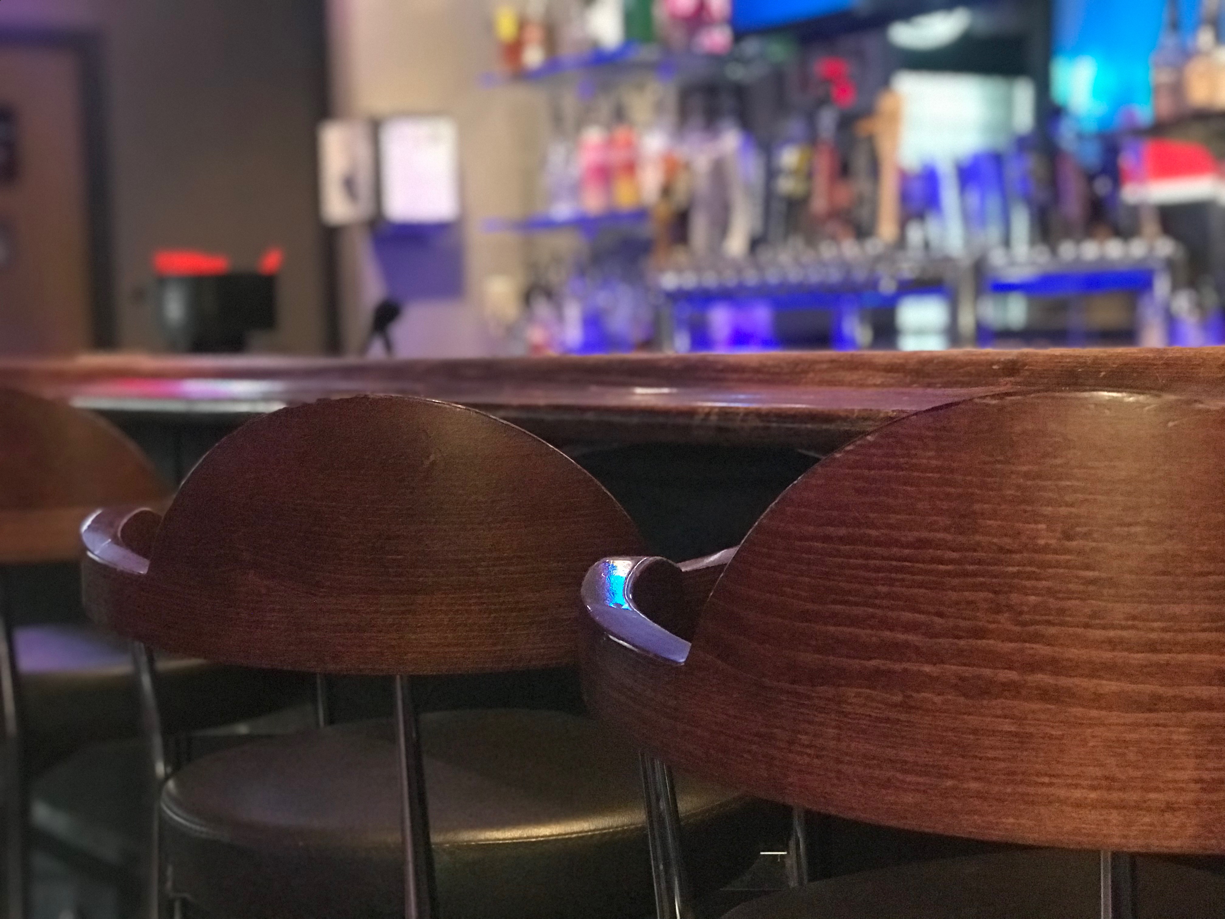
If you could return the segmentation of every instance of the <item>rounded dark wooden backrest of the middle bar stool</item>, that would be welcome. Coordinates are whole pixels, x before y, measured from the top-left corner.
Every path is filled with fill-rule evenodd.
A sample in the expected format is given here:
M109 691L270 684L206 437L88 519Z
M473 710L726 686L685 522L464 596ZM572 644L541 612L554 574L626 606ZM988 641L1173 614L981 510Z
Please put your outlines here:
M392 396L251 422L153 523L86 527L91 616L164 651L316 673L572 664L583 573L641 548L560 451Z

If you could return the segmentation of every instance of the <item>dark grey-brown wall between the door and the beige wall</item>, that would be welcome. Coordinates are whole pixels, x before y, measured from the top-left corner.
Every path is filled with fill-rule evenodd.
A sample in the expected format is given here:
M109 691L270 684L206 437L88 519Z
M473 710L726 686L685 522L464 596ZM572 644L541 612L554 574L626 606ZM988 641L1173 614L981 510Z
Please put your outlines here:
M4 0L5 27L89 29L103 39L120 343L159 347L140 297L153 249L201 248L252 265L279 244L281 328L262 343L322 349L322 0Z

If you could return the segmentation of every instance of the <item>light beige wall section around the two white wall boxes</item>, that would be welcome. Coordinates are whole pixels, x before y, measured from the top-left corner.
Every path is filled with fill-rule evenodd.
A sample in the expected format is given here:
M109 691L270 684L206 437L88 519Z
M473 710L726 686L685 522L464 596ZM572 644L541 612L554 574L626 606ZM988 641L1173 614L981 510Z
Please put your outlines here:
M466 292L453 303L410 304L396 330L404 354L505 349L481 315L484 281L522 272L523 243L481 232L488 217L530 207L541 100L524 88L486 88L494 66L488 0L328 0L333 110L343 115L442 112L459 125ZM361 341L382 297L364 229L342 234L345 339Z

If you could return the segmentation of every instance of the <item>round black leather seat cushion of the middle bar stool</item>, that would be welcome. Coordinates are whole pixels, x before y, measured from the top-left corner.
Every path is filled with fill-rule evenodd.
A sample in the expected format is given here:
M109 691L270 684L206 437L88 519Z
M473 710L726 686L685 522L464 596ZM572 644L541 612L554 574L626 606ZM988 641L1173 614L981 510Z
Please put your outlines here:
M637 754L584 718L421 718L443 919L637 919L653 894ZM402 914L394 738L366 722L198 760L162 799L172 886L209 913ZM779 809L679 781L695 887L750 865Z

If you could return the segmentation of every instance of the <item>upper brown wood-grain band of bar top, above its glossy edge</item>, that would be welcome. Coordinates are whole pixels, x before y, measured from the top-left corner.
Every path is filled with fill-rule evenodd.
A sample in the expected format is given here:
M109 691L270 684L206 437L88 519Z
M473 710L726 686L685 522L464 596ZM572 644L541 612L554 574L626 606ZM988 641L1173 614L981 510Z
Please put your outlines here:
M366 360L276 355L89 354L0 359L0 380L65 386L121 380L386 381L490 390L572 387L845 386L853 388L1076 387L1202 395L1220 391L1220 348L1052 348L1042 350L784 352L622 354L469 360Z

